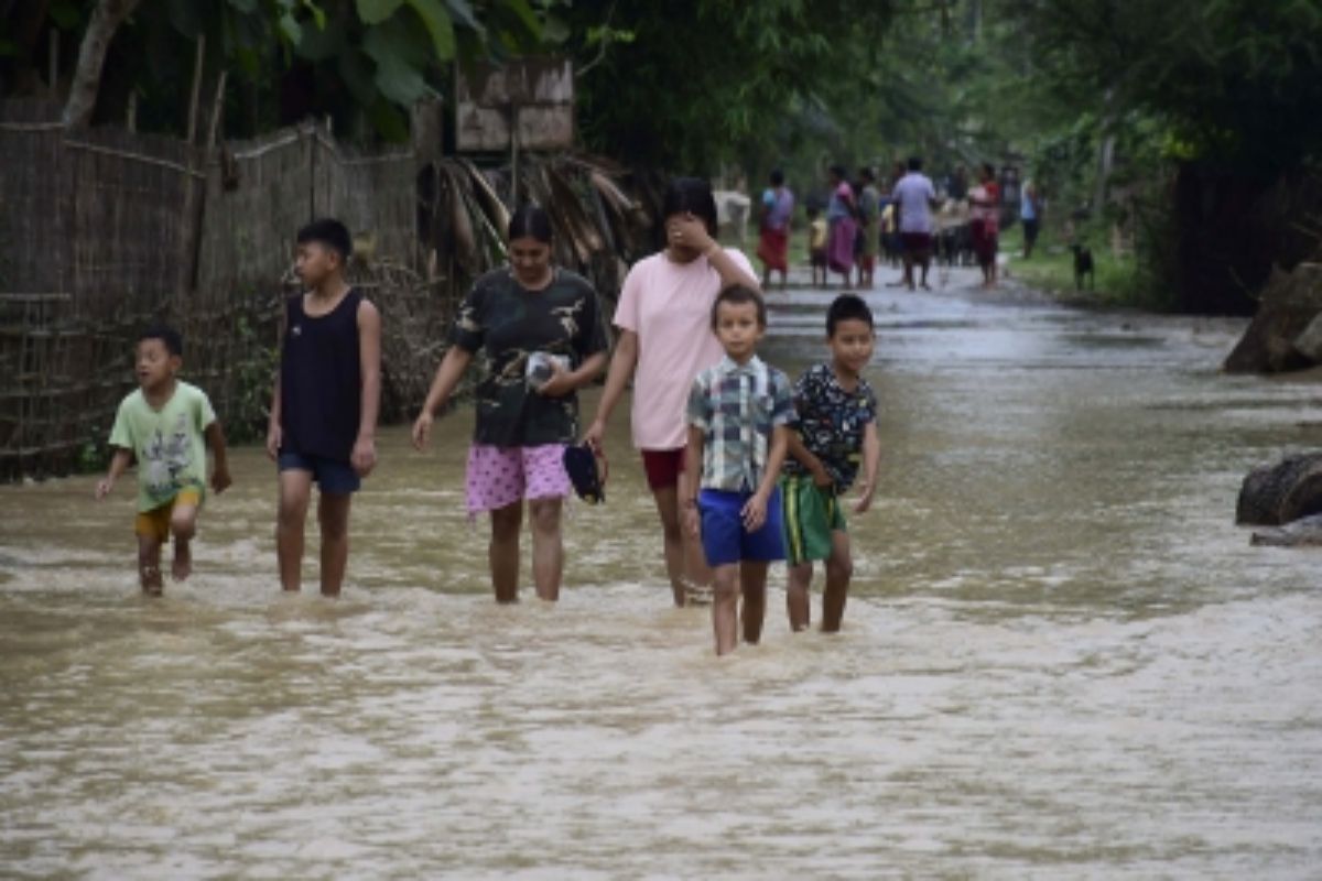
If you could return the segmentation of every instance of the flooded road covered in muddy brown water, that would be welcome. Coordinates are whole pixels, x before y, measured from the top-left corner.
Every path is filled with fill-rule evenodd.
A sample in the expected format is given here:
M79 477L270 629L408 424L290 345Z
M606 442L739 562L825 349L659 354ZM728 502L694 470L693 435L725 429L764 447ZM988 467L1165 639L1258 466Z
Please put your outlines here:
M829 299L772 293L764 355L820 358ZM338 602L279 593L256 449L163 600L127 482L0 487L0 876L1318 877L1322 559L1232 524L1322 440L1315 386L1219 375L1240 322L870 301L838 637L788 631L773 568L718 662L623 407L555 606L490 598L467 411L430 456L385 431Z

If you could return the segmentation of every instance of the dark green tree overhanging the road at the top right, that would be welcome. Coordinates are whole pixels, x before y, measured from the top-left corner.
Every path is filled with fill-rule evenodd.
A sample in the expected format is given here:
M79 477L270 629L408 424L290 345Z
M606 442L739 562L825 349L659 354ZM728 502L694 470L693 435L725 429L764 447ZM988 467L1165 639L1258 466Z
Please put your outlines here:
M1301 189L1319 160L1322 5L999 0L995 9L1026 46L1038 94L1088 120L1100 147L1096 195L1112 153L1151 181L1167 221L1138 246L1177 308L1251 312L1270 265L1315 247L1297 230L1306 218L1264 207L1264 197Z

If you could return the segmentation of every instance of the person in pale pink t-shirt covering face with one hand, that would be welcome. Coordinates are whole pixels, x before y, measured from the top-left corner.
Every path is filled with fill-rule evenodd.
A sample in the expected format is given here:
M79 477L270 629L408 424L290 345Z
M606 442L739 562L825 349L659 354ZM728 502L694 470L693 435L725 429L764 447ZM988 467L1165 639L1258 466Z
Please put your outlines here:
M666 247L639 260L624 279L615 309L619 339L596 419L586 440L602 446L605 420L633 378L633 445L642 453L665 542L676 605L710 590L702 547L680 528L678 479L683 469L685 405L697 375L723 357L711 333L711 304L732 284L760 291L748 258L717 240L711 186L695 177L670 182L665 195Z

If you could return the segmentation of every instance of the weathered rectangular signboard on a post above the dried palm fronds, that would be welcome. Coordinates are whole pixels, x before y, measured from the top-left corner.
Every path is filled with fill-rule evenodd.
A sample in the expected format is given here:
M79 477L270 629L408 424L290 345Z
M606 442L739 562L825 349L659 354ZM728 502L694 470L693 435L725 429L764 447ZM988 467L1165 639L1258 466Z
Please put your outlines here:
M510 144L510 131L517 141ZM518 58L455 75L455 147L460 152L566 149L574 145L574 63Z

